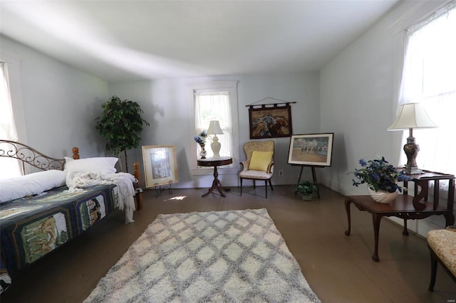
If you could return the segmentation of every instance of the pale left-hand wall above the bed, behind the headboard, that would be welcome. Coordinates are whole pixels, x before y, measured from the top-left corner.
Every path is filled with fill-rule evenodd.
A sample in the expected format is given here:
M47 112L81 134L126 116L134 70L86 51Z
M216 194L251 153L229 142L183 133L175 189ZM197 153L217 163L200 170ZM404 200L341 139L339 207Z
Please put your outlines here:
M13 102L21 102L14 106L19 141L55 157L71 156L75 146L83 157L104 155L95 117L108 83L4 36L0 46L2 59L16 61L10 81Z

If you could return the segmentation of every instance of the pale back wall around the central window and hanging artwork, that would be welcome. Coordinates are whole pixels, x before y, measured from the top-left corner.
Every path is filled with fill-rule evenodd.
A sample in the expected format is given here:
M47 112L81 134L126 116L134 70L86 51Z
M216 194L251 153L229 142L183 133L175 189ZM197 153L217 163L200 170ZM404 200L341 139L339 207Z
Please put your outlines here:
M292 126L294 134L314 133L319 128L319 75L318 73L299 73L286 75L229 75L211 78L182 78L154 81L135 81L110 83L110 93L121 99L129 99L140 103L145 111L144 119L150 122L142 133L141 145L175 145L179 183L173 187L207 187L212 183L212 172L208 176L192 176L190 174L190 144L195 130L189 129L190 108L193 106L189 85L207 80L238 80L238 112L239 112L239 154L241 159L233 159L239 171L239 163L243 161L242 146L249 141L249 110L246 105L274 97L290 102ZM257 104L273 103L264 100ZM274 156L275 170L284 171L283 176L274 175L273 184L295 184L299 177L299 168L287 164L289 138L276 138ZM129 154L129 162L140 161L142 167L142 151L137 149ZM310 172L306 172L310 173ZM236 174L224 174L219 171L219 179L224 186L237 186L239 178ZM310 176L310 174L309 174ZM304 177L309 177L304 176Z

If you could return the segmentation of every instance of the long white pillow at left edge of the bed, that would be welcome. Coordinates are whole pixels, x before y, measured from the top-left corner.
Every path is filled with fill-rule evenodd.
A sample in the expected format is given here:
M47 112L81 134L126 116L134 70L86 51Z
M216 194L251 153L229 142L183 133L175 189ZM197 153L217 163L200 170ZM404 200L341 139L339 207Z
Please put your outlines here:
M0 203L36 195L66 184L66 171L51 169L0 180Z

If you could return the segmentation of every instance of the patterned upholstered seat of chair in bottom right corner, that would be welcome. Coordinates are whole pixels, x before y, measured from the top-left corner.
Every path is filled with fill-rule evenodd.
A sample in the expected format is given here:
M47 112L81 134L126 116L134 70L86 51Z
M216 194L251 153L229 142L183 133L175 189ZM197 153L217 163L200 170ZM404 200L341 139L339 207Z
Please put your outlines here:
M456 275L456 231L430 230L427 233L427 243L450 272Z

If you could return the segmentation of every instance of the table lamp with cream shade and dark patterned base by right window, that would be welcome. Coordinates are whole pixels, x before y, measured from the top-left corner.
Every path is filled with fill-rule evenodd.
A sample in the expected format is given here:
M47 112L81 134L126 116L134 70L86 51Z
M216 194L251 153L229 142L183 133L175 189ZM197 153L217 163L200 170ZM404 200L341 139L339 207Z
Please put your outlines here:
M405 155L407 156L407 165L405 165L405 169L403 170L405 174L423 174L423 171L418 169L418 165L416 164L416 156L418 156L420 146L415 143L413 129L435 127L437 127L437 124L432 122L420 103L405 103L402 105L398 117L388 127L388 130L408 129L409 136L407 138L407 144L404 145Z

